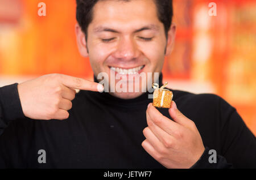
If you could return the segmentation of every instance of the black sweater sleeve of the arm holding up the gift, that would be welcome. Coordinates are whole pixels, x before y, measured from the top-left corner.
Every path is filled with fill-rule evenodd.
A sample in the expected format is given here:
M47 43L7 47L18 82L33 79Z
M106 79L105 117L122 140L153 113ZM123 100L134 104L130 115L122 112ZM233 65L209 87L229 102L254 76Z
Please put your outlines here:
M221 97L218 99L221 151L216 163L210 163L212 153L205 147L200 160L191 168L256 168L256 138L245 125L237 110Z

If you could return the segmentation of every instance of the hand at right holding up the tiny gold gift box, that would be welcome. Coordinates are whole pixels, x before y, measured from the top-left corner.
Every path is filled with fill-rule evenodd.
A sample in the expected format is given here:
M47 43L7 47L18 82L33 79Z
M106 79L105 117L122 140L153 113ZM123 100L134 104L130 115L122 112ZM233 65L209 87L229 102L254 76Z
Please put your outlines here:
M161 97L161 96L160 96ZM152 104L146 111L147 125L142 147L166 168L191 168L204 152L204 144L195 123L185 117L174 101L165 117Z

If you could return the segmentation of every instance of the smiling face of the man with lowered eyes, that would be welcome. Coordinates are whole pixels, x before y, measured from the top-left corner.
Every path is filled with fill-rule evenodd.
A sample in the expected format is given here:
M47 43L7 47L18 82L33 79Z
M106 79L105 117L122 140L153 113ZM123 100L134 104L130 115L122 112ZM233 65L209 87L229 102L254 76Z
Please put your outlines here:
M119 77L115 78L114 84L109 83L110 86L121 79L127 89L131 85L139 85L140 92L112 93L120 98L135 98L142 94L147 80L154 77L154 72L160 74L162 71L165 50L171 44L167 42L164 25L158 19L153 0L97 2L88 27L87 42L84 43L82 47L88 48L86 50L96 77L106 72L108 82L113 74ZM132 80L131 77L136 78L141 73L146 74L147 80Z

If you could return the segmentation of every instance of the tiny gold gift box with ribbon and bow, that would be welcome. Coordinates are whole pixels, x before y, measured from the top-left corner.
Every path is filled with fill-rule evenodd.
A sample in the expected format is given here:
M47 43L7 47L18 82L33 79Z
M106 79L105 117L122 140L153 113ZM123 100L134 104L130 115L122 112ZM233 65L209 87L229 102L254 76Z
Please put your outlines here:
M154 83L152 87L155 89L153 93L153 106L158 108L170 108L172 102L172 92L169 89L164 89L167 86L167 82L159 88L157 83Z

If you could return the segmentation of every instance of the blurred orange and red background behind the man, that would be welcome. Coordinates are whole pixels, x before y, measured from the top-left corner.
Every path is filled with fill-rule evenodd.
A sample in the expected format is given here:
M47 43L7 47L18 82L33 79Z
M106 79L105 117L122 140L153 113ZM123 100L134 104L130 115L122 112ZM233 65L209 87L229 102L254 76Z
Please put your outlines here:
M46 16L39 16L39 2ZM256 1L174 0L177 36L163 75L168 87L215 93L256 135ZM0 87L61 73L93 77L76 46L75 0L0 0Z

